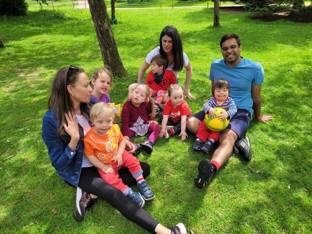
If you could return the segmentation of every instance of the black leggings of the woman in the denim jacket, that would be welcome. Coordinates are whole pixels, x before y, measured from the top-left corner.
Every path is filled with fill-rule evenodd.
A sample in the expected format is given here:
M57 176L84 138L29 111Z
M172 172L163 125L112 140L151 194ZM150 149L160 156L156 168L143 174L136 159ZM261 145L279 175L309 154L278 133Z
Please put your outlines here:
M143 177L146 178L150 173L149 164L140 162L143 170ZM128 168L121 168L118 171L119 178L128 186L136 184ZM66 182L66 181L65 181ZM117 188L106 183L95 167L82 168L78 186L88 193L92 193L110 203L127 219L140 225L147 231L155 233L155 228L159 224L144 209L131 202Z

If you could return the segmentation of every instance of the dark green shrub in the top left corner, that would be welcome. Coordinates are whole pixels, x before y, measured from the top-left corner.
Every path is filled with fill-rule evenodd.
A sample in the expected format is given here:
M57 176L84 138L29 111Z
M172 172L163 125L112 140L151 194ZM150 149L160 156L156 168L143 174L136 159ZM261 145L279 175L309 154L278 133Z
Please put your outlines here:
M0 0L0 14L11 16L25 16L28 4L25 0Z

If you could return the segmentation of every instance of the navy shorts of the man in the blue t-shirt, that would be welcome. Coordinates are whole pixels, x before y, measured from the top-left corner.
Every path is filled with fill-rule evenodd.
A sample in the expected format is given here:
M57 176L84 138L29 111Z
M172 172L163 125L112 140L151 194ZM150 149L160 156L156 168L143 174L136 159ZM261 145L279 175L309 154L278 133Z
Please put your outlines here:
M205 115L205 112L202 110L192 115L192 117L195 117L196 119L202 121L205 119ZM233 130L238 135L238 138L240 138L241 135L246 132L250 124L250 119L251 114L248 110L238 109L236 114L230 120L227 129Z

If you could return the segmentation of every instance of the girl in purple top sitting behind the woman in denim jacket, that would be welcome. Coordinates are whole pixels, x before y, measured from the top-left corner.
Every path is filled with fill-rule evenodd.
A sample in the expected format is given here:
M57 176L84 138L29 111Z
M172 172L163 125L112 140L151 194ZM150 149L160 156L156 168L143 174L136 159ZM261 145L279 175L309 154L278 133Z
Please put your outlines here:
M91 83L93 91L90 101L92 103L110 103L110 96L107 94L110 86L113 85L113 76L110 71L107 68L97 69L91 76Z

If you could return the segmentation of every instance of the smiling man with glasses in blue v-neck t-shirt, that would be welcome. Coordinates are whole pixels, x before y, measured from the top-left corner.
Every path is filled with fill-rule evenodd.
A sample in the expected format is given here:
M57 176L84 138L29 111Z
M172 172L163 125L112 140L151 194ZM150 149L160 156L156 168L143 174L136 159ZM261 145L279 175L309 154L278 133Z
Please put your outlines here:
M219 146L212 160L205 158L198 164L198 176L194 179L198 188L203 188L227 161L232 154L233 146L234 151L241 154L246 161L251 160L249 139L240 137L248 128L252 114L266 124L268 120L274 119L271 115L261 115L261 84L264 82L264 71L260 63L240 56L241 42L235 34L224 35L220 46L223 59L212 62L209 80L213 87L216 80L227 79L231 88L229 97L235 100L238 110L227 128L221 132ZM200 111L188 119L187 127L194 134L197 133L199 123L205 114L204 111Z

